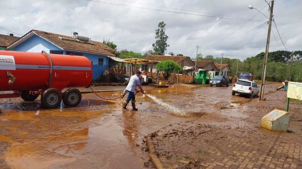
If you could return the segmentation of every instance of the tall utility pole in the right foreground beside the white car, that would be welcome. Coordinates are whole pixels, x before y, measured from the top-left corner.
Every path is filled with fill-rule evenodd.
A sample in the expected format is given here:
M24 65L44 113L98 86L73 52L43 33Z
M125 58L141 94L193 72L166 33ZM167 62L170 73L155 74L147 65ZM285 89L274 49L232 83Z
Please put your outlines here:
M264 57L262 79L261 79L261 93L260 93L260 97L259 97L260 101L263 100L263 95L264 95L265 74L266 74L266 66L267 66L267 59L268 59L269 40L271 38L271 20L273 17L273 8L274 8L274 1L271 1L271 14L269 15L269 21L268 21L268 32L267 32L267 38L266 38L265 57Z

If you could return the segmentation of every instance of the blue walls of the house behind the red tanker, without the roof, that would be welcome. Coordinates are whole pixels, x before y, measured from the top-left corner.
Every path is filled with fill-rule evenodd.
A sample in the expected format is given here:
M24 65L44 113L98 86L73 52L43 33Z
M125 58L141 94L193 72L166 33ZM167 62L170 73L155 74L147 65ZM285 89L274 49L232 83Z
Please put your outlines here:
M47 53L50 53L50 50L53 51L62 51L62 49L58 48L56 45L53 45L49 41L41 38L40 36L34 35L33 37L27 39L22 44L18 45L15 49L15 51L24 51L24 52L38 52L40 53L42 50L46 51ZM63 51L63 54L66 54L67 52L72 51ZM81 52L74 52L74 53L81 53ZM108 58L103 55L98 54L89 54L84 53L83 56L87 57L90 62L92 62L92 79L96 80L103 75L104 70L108 68ZM98 59L103 59L103 66L98 66Z

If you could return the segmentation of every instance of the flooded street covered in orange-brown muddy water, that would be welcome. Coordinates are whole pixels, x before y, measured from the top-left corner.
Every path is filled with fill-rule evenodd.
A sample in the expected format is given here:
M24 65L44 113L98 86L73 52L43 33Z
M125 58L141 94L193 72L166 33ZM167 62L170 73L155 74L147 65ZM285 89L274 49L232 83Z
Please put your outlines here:
M275 88L268 85L265 92ZM136 96L138 111L122 110L126 97L102 100L93 93L83 94L73 108L43 109L40 97L34 102L2 99L0 168L148 167L145 137L154 131L192 121L235 129L253 126L244 121L250 115L242 113L252 99L231 91L232 86L146 89L146 95ZM122 92L98 94L113 98ZM280 108L285 100L281 103Z

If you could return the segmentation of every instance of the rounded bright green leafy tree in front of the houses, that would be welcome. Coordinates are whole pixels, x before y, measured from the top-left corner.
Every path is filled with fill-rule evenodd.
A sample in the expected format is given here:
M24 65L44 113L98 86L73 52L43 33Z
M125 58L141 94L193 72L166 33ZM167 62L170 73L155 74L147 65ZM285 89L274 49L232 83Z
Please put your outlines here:
M181 70L182 68L177 63L174 63L172 60L164 60L164 61L157 63L156 69L159 72L162 72L165 80L168 80L171 73L173 73L174 71L177 71L177 70Z

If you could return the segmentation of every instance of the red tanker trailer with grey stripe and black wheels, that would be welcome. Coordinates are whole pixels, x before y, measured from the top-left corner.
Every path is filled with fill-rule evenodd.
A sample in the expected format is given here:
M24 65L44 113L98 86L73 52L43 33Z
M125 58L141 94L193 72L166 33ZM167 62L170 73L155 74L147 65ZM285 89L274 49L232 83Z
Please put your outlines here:
M21 97L34 101L41 95L46 108L56 108L63 100L66 106L77 106L82 99L76 87L89 87L92 66L83 56L0 51L0 98ZM62 94L64 88L69 88Z

